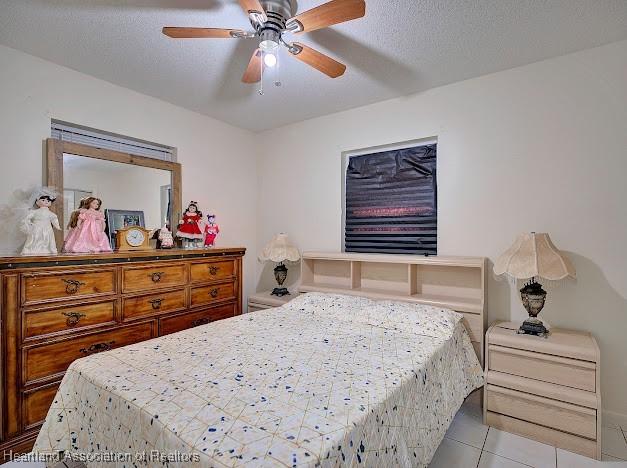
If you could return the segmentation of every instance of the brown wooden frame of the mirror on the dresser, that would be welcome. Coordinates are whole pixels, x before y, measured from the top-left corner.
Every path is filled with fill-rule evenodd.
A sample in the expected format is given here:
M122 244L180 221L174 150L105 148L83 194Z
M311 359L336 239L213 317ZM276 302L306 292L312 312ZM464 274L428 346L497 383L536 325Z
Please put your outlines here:
M181 165L179 163L48 138L46 140L46 185L57 190L60 196L63 196L64 188L63 154L74 154L86 158L102 159L105 161L170 171L170 184L172 186L172 215L170 228L173 229L180 219L183 202L181 193ZM63 204L55 203L50 209L59 217L59 224L61 224L62 227L65 226L66 220L63 219ZM63 246L63 230L55 231L55 238L60 251Z

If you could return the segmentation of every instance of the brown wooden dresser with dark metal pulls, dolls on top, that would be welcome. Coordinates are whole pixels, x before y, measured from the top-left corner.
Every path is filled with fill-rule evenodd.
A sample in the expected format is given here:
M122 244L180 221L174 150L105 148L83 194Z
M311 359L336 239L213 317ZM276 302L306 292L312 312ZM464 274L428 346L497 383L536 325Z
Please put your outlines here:
M75 359L241 314L244 253L0 257L0 451L30 450Z

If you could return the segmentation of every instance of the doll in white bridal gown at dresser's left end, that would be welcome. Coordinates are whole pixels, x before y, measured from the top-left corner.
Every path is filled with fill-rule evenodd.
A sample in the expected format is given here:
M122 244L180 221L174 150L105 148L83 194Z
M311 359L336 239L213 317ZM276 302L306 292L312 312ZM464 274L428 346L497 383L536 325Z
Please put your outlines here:
M26 243L22 249L22 255L48 255L57 253L57 244L54 240L54 227L61 230L59 218L50 211L52 202L56 197L41 195L35 201L33 209L28 211L22 220L21 229L26 234Z

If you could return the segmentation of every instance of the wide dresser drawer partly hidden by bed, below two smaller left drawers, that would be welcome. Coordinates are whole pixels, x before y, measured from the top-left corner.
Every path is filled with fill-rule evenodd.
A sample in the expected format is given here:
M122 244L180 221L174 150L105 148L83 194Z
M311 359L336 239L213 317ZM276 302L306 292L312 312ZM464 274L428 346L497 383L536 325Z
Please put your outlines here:
M153 322L148 322L24 348L23 383L60 375L78 358L149 340L152 336Z

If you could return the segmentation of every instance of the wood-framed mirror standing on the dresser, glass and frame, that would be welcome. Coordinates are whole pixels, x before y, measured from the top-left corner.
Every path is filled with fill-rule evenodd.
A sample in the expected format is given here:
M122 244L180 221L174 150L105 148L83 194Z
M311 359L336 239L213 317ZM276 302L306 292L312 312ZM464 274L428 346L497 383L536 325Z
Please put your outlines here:
M63 201L51 208L63 227L58 245L67 235L72 212L87 197L102 200L113 248L121 227L176 226L181 216L179 164L54 139L47 146L48 185L63 194Z

